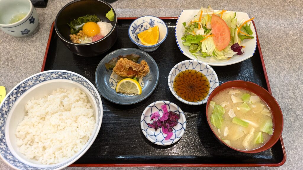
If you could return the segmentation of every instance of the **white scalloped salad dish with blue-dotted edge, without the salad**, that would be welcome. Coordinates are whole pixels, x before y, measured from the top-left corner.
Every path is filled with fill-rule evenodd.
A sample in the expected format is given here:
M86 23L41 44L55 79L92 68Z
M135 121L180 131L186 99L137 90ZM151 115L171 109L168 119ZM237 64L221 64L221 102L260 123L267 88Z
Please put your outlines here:
M217 11L218 10L214 10L214 12L217 12ZM255 27L253 24L250 25L250 28L251 28L251 31L253 32L253 34L251 36L253 36L254 38L245 39L244 41L241 42L241 45L244 46L244 48L242 48L242 50L244 50L244 53L242 55L234 55L233 57L230 57L228 59L218 60L215 57L205 57L204 58L204 57L199 57L199 56L196 57L193 54L191 54L191 52L189 51L189 46L184 46L182 43L183 40L181 40L181 38L184 35L183 23L184 22L187 23L188 21L190 21L195 15L197 15L198 12L199 12L198 9L197 10L183 10L178 17L177 24L175 26L175 38L176 38L178 48L180 49L182 54L184 54L186 57L188 57L192 60L200 60L211 66L226 66L226 65L236 64L236 63L244 61L254 55L256 47L257 47L257 37L256 37ZM230 11L226 11L226 12L230 12ZM212 14L212 12L209 12L208 14ZM237 18L238 22L246 21L246 20L250 19L248 14L244 13L244 12L236 12L235 18Z

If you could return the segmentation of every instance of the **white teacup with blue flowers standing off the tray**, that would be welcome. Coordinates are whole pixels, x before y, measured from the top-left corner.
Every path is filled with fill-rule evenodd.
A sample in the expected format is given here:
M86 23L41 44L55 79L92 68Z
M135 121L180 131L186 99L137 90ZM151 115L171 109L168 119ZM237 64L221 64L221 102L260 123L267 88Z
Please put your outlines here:
M14 18L18 17L24 18L14 22L16 21ZM0 29L5 33L15 37L26 37L34 33L38 23L38 13L30 0L0 1Z

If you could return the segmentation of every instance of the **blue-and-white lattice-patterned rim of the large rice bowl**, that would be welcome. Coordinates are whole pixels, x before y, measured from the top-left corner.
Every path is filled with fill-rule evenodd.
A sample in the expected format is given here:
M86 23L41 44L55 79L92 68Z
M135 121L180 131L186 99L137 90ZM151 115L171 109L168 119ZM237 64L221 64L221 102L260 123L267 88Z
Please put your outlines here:
M73 155L71 158L66 159L63 162L59 162L57 164L45 165L44 168L34 167L27 165L20 160L18 160L14 155L12 155L11 151L9 150L6 139L5 139L5 121L7 115L10 112L10 108L16 102L16 100L22 96L24 92L28 89L31 89L35 85L48 81L48 80L71 80L81 84L82 86L86 87L88 91L92 93L93 99L96 101L97 106L96 109L98 110L98 119L99 121L95 124L95 129L92 133L92 136L88 139L88 142L83 146L81 151ZM34 81L33 84L27 85L28 81ZM20 91L19 91L20 90ZM19 95L20 94L20 95ZM11 100L12 99L12 100ZM8 164L10 167L14 169L22 169L22 170L57 170L67 167L68 165L72 164L76 160L78 160L93 144L95 141L98 132L101 128L102 123L102 116L103 116L103 108L102 108L102 101L101 97L98 93L98 90L95 86L87 80L85 77L81 76L80 74L74 73L72 71L67 70L48 70L43 71L37 74L34 74L20 83L18 83L12 90L7 93L5 98L3 99L2 103L0 103L0 157L1 159ZM97 121L97 119L96 119Z

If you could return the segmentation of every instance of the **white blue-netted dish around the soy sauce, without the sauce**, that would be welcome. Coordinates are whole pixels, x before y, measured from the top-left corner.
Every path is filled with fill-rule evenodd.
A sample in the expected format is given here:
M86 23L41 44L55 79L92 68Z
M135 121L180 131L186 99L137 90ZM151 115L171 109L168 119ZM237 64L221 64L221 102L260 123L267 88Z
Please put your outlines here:
M185 72L185 70L196 70L197 72L201 72L204 76L207 77L209 81L208 87L210 88L208 91L207 96L204 98L204 100L197 101L197 102L189 102L184 99L182 99L174 90L174 81L175 78L178 76L180 72ZM180 63L176 64L168 75L168 87L169 90L171 90L171 93L182 103L189 104L189 105L200 105L207 102L207 99L210 95L210 93L219 86L219 80L218 76L214 69L211 68L210 65L199 61L199 60L185 60L181 61Z

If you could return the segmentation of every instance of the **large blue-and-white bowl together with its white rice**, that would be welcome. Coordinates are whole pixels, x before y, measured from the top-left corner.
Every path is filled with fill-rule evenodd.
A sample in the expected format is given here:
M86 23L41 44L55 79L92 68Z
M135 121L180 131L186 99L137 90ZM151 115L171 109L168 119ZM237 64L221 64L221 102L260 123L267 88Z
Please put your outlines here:
M95 141L102 101L85 77L49 70L18 83L0 104L0 157L15 169L61 169Z

